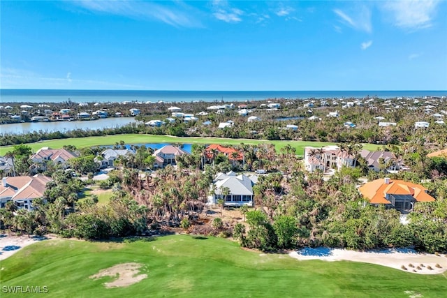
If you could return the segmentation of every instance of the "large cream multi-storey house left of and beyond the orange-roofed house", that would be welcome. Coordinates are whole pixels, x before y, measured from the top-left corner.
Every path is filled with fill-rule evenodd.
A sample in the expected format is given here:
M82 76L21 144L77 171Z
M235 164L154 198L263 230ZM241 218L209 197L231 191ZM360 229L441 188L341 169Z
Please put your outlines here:
M342 151L338 146L305 147L305 169L309 172L314 170L341 169L342 166L353 167L356 157Z

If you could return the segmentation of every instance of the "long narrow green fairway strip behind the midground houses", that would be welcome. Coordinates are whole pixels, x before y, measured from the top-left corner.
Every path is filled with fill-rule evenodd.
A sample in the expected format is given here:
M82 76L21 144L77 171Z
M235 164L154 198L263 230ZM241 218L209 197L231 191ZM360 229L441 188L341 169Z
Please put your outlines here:
M295 147L296 154L303 155L304 148L306 146L313 147L323 147L329 144L328 142L302 142L302 141L265 141L265 140L247 140L247 139L226 139L219 137L171 137L168 135L139 135L139 134L127 134L127 135L108 135L105 137L80 137L71 138L63 140L47 140L43 142L36 142L28 144L33 151L41 149L41 147L50 148L62 148L64 145L75 145L78 148L91 147L91 146L101 146L101 145L112 145L116 142L123 140L126 144L144 144L144 143L197 143L197 144L227 144L236 145L240 143L244 144L259 144L261 142L267 142L274 144L277 151L286 146L286 144L291 144ZM375 144L364 144L364 149L376 150L379 146ZM12 146L0 147L0 156L6 154L10 151Z

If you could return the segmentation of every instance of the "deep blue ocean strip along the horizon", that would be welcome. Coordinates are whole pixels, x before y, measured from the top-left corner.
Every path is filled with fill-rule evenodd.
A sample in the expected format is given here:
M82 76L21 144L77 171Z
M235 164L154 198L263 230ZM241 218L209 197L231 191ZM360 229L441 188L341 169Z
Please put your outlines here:
M0 89L0 103L120 103L140 101L156 103L193 102L195 100L245 101L270 98L397 98L447 96L447 91L132 91L132 90L43 90L43 89Z

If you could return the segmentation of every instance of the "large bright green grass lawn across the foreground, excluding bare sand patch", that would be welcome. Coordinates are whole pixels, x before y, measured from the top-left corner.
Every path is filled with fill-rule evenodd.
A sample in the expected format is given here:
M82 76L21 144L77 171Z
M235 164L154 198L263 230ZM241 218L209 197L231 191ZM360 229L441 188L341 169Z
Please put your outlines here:
M105 288L89 276L124 262L147 278ZM153 241L33 244L1 262L2 286L47 286L42 297L446 297L447 276L418 275L358 262L298 261L244 251L227 239L171 235ZM5 295L1 297L20 297ZM24 297L38 295L22 294Z

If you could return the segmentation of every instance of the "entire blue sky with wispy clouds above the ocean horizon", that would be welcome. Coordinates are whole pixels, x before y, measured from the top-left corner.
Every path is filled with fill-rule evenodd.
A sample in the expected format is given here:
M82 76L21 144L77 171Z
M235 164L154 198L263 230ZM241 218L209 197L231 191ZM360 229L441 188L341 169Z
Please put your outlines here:
M447 90L447 1L1 1L2 89Z

